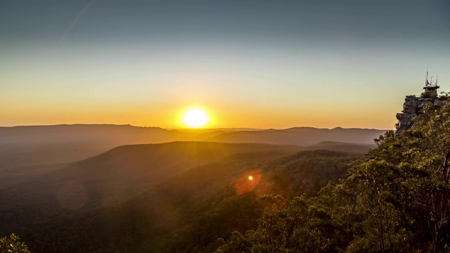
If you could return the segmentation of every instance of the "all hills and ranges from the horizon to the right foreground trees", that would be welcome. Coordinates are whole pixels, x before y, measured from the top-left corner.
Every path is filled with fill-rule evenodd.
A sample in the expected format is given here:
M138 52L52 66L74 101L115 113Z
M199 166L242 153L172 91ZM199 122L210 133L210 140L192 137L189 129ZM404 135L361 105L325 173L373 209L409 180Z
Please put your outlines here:
M212 252L255 226L258 195L314 195L384 132L0 127L0 237L34 252Z

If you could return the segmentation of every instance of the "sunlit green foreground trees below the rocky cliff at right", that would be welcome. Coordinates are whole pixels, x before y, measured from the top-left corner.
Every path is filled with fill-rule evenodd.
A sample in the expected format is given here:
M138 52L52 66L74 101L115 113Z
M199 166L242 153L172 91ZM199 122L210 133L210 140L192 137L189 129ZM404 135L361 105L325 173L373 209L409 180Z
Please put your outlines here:
M450 105L375 141L371 159L317 197L260 197L270 205L243 252L449 252Z

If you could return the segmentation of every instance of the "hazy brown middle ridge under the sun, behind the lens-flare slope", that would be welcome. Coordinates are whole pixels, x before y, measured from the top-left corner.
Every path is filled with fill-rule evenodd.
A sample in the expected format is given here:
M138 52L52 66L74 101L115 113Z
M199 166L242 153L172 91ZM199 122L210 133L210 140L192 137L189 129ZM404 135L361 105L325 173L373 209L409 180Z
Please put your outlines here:
M300 149L288 145L203 142L125 145L71 164L8 170L0 175L4 182L0 186L0 216L8 217L0 224L0 231L12 233L20 227L28 235L41 222L117 205L181 171L235 154L268 152L271 157ZM29 176L29 171L34 176ZM36 225L26 225L30 222Z

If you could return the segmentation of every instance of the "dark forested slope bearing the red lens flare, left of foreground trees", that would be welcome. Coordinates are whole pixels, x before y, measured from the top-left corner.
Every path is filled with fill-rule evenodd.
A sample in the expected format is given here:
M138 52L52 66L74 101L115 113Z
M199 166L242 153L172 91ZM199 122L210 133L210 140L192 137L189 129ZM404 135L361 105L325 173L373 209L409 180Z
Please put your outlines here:
M115 207L49 219L35 237L46 238L30 245L37 252L214 252L218 238L257 226L258 195L315 195L362 158L328 150L237 153L182 171ZM248 181L249 175L259 177L257 183ZM246 183L251 187L241 191Z

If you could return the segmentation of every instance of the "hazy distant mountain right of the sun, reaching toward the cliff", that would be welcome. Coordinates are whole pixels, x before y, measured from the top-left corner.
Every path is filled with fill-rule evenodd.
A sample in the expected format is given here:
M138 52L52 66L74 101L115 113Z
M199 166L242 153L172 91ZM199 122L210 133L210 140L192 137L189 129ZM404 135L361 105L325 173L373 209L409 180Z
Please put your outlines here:
M226 143L271 143L285 145L314 145L322 141L339 141L346 143L373 143L374 138L384 134L377 129L316 129L312 127L295 127L291 129L269 129L262 131L236 131L214 136L207 141Z

